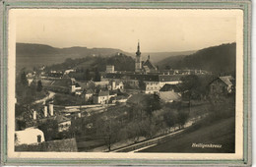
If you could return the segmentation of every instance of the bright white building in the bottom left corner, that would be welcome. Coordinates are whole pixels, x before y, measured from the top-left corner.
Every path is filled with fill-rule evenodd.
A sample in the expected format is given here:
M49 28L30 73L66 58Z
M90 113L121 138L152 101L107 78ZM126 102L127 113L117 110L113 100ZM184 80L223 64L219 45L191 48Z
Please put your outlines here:
M43 132L34 127L15 132L15 145L38 144L44 141Z

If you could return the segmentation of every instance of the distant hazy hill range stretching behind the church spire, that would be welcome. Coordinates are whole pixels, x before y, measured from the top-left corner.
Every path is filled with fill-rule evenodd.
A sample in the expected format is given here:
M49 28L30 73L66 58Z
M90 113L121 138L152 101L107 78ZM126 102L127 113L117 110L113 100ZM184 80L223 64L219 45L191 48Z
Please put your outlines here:
M32 44L32 43L17 43L16 44L16 60L17 70L22 68L32 69L38 66L50 66L53 64L61 64L66 59L79 59L85 57L112 57L117 53L135 58L134 53L124 52L120 49L112 48L87 48L87 47L69 47L69 48L56 48L45 44ZM184 52L143 52L142 59L147 60L148 55L151 55L152 62L156 63L162 59L176 55L189 55L195 51ZM117 68L118 69L118 68Z

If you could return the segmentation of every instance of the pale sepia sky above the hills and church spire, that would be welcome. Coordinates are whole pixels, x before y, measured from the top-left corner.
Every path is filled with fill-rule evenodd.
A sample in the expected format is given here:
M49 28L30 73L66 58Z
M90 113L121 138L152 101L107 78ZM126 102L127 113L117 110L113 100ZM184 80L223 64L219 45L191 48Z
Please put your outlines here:
M16 41L134 52L198 50L236 41L240 10L15 9Z

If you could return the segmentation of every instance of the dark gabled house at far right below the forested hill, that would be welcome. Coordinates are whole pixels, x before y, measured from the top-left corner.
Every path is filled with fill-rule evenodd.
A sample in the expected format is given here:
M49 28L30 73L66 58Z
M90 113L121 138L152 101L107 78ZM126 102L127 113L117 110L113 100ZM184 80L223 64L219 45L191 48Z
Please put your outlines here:
M220 98L234 91L235 81L231 76L224 76L215 79L209 86L209 96L211 98Z

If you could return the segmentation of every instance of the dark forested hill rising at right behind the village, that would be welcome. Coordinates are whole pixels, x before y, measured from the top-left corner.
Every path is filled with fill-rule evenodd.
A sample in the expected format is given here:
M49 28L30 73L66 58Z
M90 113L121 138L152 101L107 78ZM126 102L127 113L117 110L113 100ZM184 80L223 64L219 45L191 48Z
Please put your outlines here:
M161 60L160 69L202 69L213 73L235 72L236 43L222 44L197 51L188 56Z

